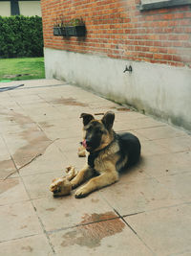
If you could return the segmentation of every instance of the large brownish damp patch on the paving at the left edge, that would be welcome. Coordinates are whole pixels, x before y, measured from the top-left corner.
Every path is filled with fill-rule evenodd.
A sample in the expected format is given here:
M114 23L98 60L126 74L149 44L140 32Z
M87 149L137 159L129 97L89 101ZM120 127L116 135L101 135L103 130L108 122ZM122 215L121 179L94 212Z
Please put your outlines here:
M32 161L32 159L42 155L52 143L52 140L50 140L45 133L35 125L29 116L10 110L3 111L1 114L5 116L5 120L11 121L11 124L15 126L15 128L20 128L19 132L11 134L11 141L14 141L14 138L21 138L26 142L25 146L18 148L11 155L17 169L22 168ZM8 148L10 148L10 142L6 141L6 143ZM4 169L4 172L0 178L5 178L7 175L16 171L11 159L0 162L0 170L2 169Z

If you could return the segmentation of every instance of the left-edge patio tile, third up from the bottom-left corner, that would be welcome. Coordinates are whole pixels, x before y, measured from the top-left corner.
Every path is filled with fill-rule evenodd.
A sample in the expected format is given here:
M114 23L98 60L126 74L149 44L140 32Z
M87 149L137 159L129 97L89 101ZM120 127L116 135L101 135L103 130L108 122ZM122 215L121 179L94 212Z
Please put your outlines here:
M29 196L19 177L0 180L0 205L25 200L29 200Z

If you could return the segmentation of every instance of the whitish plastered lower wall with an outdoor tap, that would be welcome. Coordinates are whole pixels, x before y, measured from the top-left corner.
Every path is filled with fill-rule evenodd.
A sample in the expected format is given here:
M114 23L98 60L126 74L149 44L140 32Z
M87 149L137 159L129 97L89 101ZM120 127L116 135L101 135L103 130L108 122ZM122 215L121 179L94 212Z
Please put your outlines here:
M191 70L45 49L48 79L69 81L191 130ZM126 64L132 73L123 73Z

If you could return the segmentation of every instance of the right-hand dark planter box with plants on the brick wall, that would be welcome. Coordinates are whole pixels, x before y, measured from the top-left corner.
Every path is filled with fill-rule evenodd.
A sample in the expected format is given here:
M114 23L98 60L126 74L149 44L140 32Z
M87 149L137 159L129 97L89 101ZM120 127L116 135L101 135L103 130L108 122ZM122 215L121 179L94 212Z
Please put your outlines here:
M85 36L86 27L82 18L74 18L66 24L66 36Z

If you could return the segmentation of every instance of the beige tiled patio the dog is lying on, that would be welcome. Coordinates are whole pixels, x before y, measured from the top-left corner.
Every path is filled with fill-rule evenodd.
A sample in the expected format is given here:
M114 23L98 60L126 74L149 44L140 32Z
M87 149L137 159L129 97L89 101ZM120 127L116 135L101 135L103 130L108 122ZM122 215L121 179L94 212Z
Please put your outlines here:
M20 83L0 92L0 255L191 255L191 137L61 81L0 86ZM107 110L141 163L87 198L53 198L53 177L85 162L80 113Z

